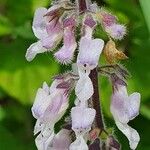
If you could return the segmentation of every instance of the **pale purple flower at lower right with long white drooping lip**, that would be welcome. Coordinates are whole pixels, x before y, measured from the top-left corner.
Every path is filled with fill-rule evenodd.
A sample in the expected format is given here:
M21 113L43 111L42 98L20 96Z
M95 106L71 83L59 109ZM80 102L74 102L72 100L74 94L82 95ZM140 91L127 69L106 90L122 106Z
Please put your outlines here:
M128 138L131 149L136 149L140 137L138 132L128 125L128 122L139 114L139 107L139 93L135 92L128 96L126 86L114 85L110 110L117 127Z

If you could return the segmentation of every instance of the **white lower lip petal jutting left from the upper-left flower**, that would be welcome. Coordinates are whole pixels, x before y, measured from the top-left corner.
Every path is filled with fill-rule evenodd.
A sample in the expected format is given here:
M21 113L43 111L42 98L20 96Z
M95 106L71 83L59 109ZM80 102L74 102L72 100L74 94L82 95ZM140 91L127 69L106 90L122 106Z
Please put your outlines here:
M41 41L38 41L36 43L33 43L28 49L27 49L27 52L26 52L26 59L27 61L32 61L35 56L39 53L44 53L46 52L47 49L45 49L43 46L42 46L42 43Z

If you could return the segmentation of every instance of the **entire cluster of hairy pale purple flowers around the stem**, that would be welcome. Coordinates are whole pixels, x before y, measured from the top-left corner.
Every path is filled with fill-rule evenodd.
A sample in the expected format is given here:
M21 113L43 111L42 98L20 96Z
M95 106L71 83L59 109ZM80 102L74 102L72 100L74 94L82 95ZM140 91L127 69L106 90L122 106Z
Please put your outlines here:
M118 129L127 136L130 148L135 149L140 137L128 122L139 113L140 94L133 93L128 96L124 81L128 73L124 68L110 65L97 69L103 49L110 64L116 63L118 59L127 58L122 51L116 49L112 40L121 40L126 28L117 23L115 16L99 9L95 3L82 1L79 0L74 4L69 0L60 0L53 3L49 9L38 8L35 11L32 29L38 41L28 48L26 53L28 61L32 61L39 53L51 51L59 63L71 64L76 58L75 50L78 50L76 63L72 65L73 71L55 76L51 86L44 82L42 88L37 91L32 106L32 114L37 119L34 128L34 134L37 135L36 146L38 150L88 150L94 146L100 149L102 146L102 142L99 141L100 135L103 131L106 133L107 131L96 122L98 112L101 111L93 105L93 101L99 99L93 99L95 89L90 77L91 72L96 70L97 73L99 71L101 74L107 74L112 81L110 111ZM97 25L101 25L110 38L105 48L102 39L93 37ZM80 31L80 34L76 31ZM63 46L58 51L53 51L61 41ZM69 96L73 90L76 98L70 109ZM71 118L66 122L71 128L63 125L56 133L55 125L67 110L70 111ZM114 136L108 133L107 136L105 146L108 149L120 149Z

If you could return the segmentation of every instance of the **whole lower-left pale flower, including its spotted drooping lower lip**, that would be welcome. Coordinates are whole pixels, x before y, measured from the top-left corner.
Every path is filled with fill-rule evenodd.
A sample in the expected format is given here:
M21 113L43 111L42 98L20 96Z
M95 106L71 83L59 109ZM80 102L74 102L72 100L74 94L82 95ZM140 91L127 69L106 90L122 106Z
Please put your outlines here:
M39 133L35 142L39 150L47 150L54 138L54 125L64 115L68 107L66 90L59 89L57 86L63 82L54 80L49 88L46 83L39 88L35 102L32 106L32 114L37 119L34 134Z

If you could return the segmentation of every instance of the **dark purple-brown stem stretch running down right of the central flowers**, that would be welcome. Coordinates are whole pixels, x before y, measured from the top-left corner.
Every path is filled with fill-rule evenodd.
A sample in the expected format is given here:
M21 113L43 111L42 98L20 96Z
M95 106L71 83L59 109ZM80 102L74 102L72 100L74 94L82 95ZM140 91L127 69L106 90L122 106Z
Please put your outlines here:
M98 82L98 71L97 68L91 71L90 78L94 87L94 94L92 96L93 107L96 110L96 126L102 131L104 129L103 115L101 111L101 102L99 96L99 82Z

